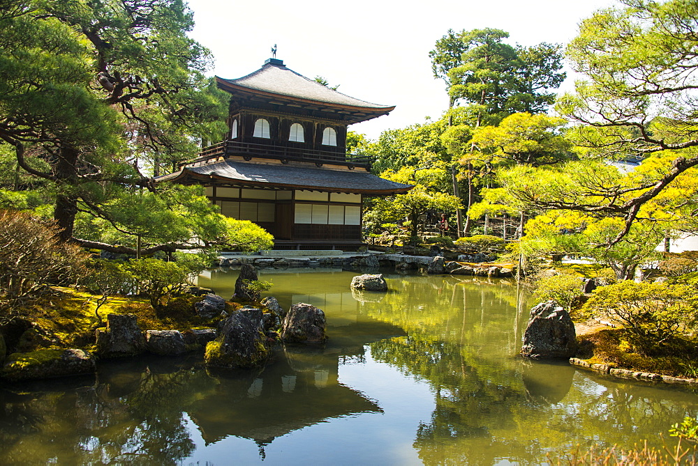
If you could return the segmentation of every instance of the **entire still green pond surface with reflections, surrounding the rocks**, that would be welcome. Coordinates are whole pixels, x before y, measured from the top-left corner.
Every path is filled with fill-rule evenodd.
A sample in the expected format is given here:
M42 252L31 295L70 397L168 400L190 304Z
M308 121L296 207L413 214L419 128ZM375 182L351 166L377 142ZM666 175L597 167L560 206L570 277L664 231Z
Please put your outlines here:
M209 374L201 356L102 363L96 380L0 389L0 464L540 464L641 440L695 415L688 389L517 357L530 303L515 284L262 270L288 308L327 316L322 347ZM237 270L202 277L225 297Z

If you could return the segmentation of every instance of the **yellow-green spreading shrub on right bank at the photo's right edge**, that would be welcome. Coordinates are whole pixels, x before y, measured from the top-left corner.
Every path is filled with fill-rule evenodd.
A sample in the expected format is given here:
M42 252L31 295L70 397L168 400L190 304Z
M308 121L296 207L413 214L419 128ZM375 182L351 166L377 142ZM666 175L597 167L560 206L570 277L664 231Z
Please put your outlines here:
M650 354L695 329L698 313L685 299L693 294L684 285L624 280L596 288L585 309L623 324L629 343Z

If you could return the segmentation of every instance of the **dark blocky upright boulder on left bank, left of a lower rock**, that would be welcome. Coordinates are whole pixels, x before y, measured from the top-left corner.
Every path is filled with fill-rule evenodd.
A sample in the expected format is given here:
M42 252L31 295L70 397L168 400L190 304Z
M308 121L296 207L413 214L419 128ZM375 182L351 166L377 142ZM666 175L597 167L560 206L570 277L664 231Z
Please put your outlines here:
M107 328L96 330L100 357L137 356L145 352L145 335L133 314L107 315Z

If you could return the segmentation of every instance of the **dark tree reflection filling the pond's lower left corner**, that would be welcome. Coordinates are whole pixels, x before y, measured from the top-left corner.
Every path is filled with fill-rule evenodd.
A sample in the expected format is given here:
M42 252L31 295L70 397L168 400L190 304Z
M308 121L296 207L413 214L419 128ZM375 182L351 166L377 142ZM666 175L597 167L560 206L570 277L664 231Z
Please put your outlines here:
M24 403L6 392L4 412L22 410L22 428L0 424L0 456L17 464L177 464L194 449L177 400L191 374L138 372L134 384L130 373L101 373L92 387L39 391Z

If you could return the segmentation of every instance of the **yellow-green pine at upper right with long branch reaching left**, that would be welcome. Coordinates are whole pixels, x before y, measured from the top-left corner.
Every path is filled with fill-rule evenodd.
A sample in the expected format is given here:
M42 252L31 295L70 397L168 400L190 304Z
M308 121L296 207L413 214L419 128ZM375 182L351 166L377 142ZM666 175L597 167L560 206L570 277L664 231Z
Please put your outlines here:
M577 197L577 210L604 210L623 219L626 228L614 242L630 231L642 205L698 165L698 5L682 0L622 3L623 8L600 10L581 23L567 57L587 79L577 81L576 92L557 104L563 116L579 123L570 135L589 156L667 158L664 170L634 178L621 196L616 187L601 185L593 196L602 201ZM690 201L685 193L678 194L677 205ZM567 209L574 198L572 192L547 202Z

